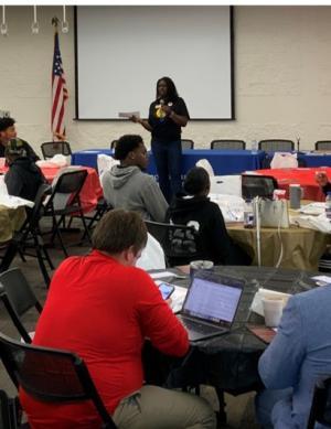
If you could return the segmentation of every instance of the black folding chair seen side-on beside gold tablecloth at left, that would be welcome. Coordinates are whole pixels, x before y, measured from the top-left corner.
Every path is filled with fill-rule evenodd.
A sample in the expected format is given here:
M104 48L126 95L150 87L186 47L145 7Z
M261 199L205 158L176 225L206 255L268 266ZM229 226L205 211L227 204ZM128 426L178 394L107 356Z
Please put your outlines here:
M29 212L24 225L19 232L14 234L13 238L8 243L4 249L4 254L0 264L0 272L8 270L13 258L19 253L24 261L25 256L38 258L44 281L46 286L50 285L50 276L45 266L45 261L47 261L51 269L54 269L54 266L44 245L39 227L39 223L44 211L43 201L46 195L50 194L50 192L51 186L47 184L42 184L39 187L34 200L34 206Z

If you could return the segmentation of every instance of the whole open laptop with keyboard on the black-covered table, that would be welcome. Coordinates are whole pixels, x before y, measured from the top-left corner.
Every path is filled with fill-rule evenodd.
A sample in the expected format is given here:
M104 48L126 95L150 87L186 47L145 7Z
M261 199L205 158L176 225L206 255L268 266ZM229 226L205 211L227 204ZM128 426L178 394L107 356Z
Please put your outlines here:
M189 340L194 342L228 332L243 288L244 280L197 271L178 314Z

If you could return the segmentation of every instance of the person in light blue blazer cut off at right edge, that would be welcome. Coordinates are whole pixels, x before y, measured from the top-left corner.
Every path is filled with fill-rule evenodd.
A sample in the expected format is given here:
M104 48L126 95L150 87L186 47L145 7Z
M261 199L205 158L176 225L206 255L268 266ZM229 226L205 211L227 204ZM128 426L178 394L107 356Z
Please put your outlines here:
M330 307L330 286L289 299L258 363L266 389L256 397L256 412L264 428L307 428L314 385L331 376Z

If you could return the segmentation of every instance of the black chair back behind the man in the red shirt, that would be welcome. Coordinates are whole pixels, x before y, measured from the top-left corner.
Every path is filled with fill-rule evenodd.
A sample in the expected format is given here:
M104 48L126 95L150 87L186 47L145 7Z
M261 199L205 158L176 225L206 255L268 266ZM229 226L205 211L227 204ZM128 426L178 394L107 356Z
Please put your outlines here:
M84 361L76 354L19 343L0 333L0 356L14 385L34 399L57 404L92 400L102 427L116 429Z

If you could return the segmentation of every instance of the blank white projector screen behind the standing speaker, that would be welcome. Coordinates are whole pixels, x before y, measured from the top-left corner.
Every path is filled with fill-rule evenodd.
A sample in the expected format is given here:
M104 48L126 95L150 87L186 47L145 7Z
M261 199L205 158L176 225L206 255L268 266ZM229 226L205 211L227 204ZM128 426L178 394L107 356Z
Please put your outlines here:
M227 6L76 9L76 118L117 119L173 79L191 119L234 119L232 13Z

